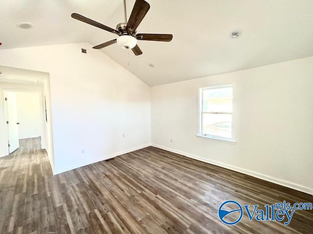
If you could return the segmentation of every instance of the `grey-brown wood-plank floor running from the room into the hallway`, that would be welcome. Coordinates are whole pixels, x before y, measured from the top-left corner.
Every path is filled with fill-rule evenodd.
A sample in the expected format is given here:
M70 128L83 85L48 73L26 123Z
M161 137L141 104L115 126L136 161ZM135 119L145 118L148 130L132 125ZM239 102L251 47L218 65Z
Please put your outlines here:
M312 211L291 223L223 224L225 200L312 202L307 195L154 147L52 176L39 139L0 158L0 233L313 233Z

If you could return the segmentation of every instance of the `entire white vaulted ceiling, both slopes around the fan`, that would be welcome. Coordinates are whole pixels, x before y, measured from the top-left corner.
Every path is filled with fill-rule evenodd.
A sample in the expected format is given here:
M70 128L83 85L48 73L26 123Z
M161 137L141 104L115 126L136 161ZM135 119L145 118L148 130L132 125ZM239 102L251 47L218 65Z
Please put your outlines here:
M171 42L139 41L140 56L130 51L129 70L150 86L313 56L313 0L147 1L151 8L137 32L174 36ZM127 1L128 16L133 4ZM72 12L112 28L123 21L122 0L1 0L1 48L116 38L71 19ZM19 29L19 21L34 28ZM230 39L236 28L243 35ZM128 53L117 44L102 51L127 67Z

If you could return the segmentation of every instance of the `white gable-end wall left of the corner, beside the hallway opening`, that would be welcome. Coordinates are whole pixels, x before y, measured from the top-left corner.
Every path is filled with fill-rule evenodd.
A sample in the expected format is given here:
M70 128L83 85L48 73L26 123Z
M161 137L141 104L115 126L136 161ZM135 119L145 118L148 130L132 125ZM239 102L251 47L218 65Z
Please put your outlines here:
M0 50L0 65L49 73L54 173L151 142L150 87L91 47Z

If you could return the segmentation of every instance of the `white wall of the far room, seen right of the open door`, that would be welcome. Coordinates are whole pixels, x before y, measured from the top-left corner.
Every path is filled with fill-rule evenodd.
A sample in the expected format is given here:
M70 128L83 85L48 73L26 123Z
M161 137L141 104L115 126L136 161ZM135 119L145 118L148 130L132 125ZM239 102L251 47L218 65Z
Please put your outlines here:
M20 139L41 137L43 134L43 116L40 93L14 93L17 100Z

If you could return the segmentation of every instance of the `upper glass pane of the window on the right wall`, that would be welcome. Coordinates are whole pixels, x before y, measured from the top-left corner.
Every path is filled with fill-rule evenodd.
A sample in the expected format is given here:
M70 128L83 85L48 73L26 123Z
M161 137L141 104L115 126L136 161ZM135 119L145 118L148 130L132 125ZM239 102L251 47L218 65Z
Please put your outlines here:
M232 111L233 88L203 89L203 112Z

